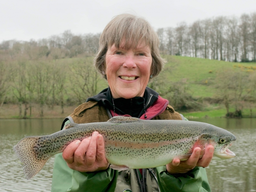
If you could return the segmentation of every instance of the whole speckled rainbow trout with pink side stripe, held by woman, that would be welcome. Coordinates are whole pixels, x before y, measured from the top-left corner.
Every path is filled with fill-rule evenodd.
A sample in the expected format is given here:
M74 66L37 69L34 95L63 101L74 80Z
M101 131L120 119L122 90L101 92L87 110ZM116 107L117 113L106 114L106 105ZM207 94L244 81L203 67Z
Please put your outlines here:
M14 150L26 178L36 175L51 156L63 152L68 144L89 137L94 131L103 136L106 159L117 170L158 167L174 158L186 160L197 146L203 155L209 144L215 148L213 159L235 157L228 147L236 137L225 129L193 121L117 116L101 123L69 123L51 135L23 138Z

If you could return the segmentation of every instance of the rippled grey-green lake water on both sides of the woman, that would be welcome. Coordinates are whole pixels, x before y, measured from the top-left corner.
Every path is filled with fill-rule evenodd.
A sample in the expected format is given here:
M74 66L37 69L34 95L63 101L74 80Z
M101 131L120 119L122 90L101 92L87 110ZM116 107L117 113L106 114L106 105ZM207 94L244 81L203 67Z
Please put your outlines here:
M0 192L50 191L54 157L31 180L23 175L12 147L23 137L60 130L63 119L0 119ZM229 130L237 140L230 149L233 159L212 160L207 167L213 192L256 191L256 119L193 119Z

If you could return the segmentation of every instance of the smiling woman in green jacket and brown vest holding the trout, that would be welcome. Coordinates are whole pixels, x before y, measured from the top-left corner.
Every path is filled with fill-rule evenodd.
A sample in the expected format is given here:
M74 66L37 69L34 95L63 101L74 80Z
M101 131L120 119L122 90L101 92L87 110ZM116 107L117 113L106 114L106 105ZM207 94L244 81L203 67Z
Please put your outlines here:
M113 18L100 37L95 66L109 87L90 97L66 118L70 122L104 122L113 116L141 119L176 119L180 114L157 92L146 87L157 76L165 60L159 54L159 39L143 18L122 14ZM206 176L213 156L208 146L202 159L195 148L186 161L174 159L154 168L161 191L210 191ZM62 191L158 191L156 181L145 169L117 171L109 168L102 135L94 132L74 141L55 157L52 192Z

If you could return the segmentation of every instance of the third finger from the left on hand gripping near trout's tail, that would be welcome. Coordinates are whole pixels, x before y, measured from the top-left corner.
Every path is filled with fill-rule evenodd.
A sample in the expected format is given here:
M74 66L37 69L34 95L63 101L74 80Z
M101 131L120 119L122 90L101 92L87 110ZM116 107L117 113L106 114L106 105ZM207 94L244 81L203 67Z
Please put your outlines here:
M96 159L96 150L97 150L97 135L98 132L93 132L90 145L87 148L85 161L88 166L94 165L95 159Z

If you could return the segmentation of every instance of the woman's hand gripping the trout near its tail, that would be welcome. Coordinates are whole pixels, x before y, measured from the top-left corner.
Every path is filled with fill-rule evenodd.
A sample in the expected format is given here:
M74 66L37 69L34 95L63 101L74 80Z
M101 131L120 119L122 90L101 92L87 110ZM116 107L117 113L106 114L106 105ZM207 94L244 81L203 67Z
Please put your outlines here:
M105 158L104 140L98 132L91 137L75 140L63 151L63 159L69 168L80 172L100 171L108 168Z

